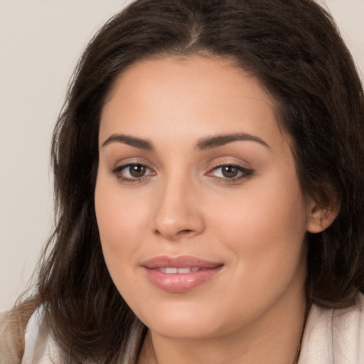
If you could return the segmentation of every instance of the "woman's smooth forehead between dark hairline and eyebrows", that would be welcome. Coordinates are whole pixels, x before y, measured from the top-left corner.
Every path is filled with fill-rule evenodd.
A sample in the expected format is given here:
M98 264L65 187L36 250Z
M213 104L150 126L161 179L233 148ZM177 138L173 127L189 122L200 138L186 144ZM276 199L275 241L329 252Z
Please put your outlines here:
M100 139L247 132L282 138L274 99L232 60L194 55L142 60L119 75L102 110Z

